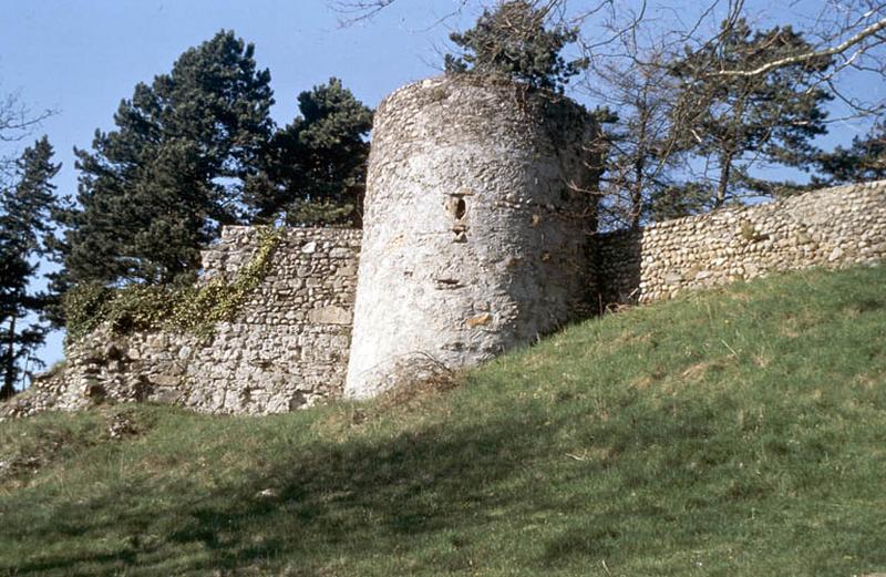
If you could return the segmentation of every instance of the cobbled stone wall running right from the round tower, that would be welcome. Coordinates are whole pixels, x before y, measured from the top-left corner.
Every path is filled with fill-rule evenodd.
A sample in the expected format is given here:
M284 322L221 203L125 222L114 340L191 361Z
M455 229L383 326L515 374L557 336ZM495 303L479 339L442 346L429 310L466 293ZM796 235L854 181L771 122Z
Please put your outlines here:
M599 303L648 302L771 271L886 259L886 181L721 209L597 240Z

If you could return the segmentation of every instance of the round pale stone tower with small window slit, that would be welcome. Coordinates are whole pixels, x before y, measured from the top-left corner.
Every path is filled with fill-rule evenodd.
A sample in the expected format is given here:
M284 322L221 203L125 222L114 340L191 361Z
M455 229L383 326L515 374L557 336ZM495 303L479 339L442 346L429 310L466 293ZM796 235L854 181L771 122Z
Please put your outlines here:
M475 364L587 312L599 130L471 75L375 112L346 396Z

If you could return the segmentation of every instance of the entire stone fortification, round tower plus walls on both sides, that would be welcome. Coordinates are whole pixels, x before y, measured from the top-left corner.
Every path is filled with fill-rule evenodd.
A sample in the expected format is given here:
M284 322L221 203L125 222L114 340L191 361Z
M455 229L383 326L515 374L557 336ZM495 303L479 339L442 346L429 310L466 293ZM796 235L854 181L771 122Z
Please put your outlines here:
M405 86L375 115L362 249L358 230L289 229L233 322L209 337L101 327L0 419L102 400L259 414L372 396L608 305L886 259L886 182L595 238L597 134L574 103L509 83ZM226 228L204 277L233 279L260 238Z

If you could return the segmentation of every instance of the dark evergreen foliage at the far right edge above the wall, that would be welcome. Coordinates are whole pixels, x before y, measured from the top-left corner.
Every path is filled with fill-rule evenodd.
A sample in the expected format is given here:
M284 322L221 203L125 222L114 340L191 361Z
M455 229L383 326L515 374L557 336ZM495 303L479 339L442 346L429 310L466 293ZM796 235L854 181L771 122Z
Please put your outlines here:
M816 184L862 183L886 178L886 123L877 122L864 137L854 137L848 148L817 158L822 172L830 177Z

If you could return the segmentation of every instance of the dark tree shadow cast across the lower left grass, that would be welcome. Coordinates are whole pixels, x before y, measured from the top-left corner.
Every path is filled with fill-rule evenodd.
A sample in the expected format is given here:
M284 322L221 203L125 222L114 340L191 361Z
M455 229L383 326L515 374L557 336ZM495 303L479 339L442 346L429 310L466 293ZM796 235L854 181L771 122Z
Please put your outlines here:
M292 445L289 454L277 446L282 457L265 471L195 501L188 498L200 495L194 485L176 495L163 480L128 480L86 503L47 505L54 514L23 529L31 543L71 535L94 542L111 534L119 545L105 539L93 555L82 550L86 545L42 555L16 574L117 575L125 566L126 575L238 575L256 564L272 569L275 559L303 559L295 575L313 575L342 552L398 556L423 536L481 528L493 508L546 506L523 503L525 488L490 490L515 481L523 463L546 455L550 439L539 426L535 419L492 421L429 426L381 441L356 435L342 444ZM518 487L524 482L515 481ZM457 538L450 543L460 546ZM171 567L168 558L177 555Z

